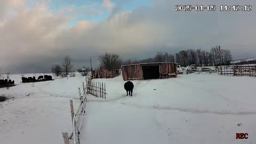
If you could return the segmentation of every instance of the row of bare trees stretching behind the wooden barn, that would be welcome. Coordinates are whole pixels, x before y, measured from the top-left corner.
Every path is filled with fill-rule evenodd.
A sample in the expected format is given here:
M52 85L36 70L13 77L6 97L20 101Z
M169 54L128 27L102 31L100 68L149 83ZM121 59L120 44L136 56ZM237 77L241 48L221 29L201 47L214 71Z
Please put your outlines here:
M97 70L120 69L122 65L149 62L176 62L181 66L188 66L190 64L196 64L198 66L219 66L230 64L230 60L232 60L230 50L224 50L220 46L212 47L210 51L188 49L181 50L176 54L157 52L154 58L146 58L143 60L122 60L118 54L105 53L99 56L100 66Z

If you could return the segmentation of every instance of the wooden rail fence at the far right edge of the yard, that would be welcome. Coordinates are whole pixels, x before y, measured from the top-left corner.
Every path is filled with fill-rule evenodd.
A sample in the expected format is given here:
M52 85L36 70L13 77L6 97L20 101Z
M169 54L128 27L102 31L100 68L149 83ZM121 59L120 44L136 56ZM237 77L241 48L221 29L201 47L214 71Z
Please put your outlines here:
M219 66L218 75L256 77L256 66Z

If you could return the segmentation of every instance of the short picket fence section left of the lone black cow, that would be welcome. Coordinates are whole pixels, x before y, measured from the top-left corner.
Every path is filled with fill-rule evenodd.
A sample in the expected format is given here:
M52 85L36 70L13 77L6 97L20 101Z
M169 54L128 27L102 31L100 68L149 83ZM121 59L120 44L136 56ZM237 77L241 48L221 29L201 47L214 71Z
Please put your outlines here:
M106 99L106 84L103 84L103 82L88 81L88 93Z

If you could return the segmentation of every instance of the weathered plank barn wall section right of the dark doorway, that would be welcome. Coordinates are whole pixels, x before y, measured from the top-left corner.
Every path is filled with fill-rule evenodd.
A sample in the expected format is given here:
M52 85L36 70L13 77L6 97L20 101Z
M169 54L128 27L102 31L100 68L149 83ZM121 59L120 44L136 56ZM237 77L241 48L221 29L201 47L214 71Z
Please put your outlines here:
M159 65L160 78L177 77L177 64L162 63Z

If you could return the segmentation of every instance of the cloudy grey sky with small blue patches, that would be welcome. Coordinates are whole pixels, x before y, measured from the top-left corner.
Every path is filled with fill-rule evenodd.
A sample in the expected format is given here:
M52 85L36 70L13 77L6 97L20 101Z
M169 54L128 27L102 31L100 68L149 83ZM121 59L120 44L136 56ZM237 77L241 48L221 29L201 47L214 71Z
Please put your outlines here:
M216 11L178 12L175 5L216 5ZM209 50L233 59L256 57L256 0L0 0L0 73L49 72L69 55L74 69L98 66L105 52L122 58L157 51ZM220 11L252 5L252 11Z

